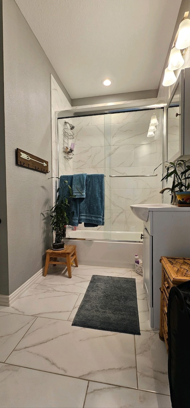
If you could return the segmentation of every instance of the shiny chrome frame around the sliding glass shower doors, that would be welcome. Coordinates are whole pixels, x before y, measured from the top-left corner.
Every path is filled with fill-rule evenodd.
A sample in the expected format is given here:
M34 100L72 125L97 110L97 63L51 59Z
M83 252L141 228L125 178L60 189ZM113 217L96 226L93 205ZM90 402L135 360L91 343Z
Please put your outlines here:
M153 105L140 105L140 106L127 106L125 104L112 105L111 108L103 106L100 109L99 106L94 106L90 110L89 108L83 109L70 109L65 111L56 111L55 112L55 132L56 132L56 141L57 141L57 171L58 177L60 177L59 172L59 132L58 132L58 120L59 119L69 119L69 118L80 118L83 116L96 116L96 115L106 115L110 113L124 113L124 112L135 112L135 111L154 111L156 109L163 109L163 149L162 149L162 162L164 162L165 149L166 149L166 103L158 103ZM164 165L163 165L164 167ZM96 241L98 239L91 238L70 238L70 239L85 239L87 241ZM103 241L113 241L112 239L103 239ZM121 242L120 240L114 240L116 242ZM122 242L141 242L141 241L122 241Z

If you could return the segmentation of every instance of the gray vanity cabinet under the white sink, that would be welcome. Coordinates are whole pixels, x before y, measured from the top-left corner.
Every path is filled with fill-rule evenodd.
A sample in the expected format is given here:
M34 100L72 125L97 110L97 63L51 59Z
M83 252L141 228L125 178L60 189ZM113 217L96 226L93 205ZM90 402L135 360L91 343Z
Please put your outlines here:
M149 306L149 320L159 329L161 257L190 256L190 208L152 208L143 231L143 285Z

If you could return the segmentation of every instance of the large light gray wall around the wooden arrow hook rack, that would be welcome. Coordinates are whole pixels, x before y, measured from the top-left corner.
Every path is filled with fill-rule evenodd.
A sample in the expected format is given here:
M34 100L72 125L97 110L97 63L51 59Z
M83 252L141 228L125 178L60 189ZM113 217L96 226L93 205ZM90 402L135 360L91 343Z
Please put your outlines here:
M3 47L11 294L43 266L51 243L40 215L52 202L50 73L65 89L14 0L3 0ZM48 160L50 173L16 166L17 147ZM8 293L7 281L0 293Z

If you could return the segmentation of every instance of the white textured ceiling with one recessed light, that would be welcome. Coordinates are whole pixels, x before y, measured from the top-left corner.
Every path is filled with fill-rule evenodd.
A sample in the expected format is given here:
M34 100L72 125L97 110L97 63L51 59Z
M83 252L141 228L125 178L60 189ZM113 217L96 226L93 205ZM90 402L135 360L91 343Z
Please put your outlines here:
M157 89L181 0L15 1L71 98Z

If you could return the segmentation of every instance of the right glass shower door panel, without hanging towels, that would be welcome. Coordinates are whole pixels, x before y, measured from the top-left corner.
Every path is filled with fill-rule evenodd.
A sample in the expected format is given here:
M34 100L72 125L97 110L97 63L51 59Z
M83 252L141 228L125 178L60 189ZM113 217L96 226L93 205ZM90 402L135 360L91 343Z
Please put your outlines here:
M157 115L155 135L147 137L151 116ZM140 241L143 223L132 213L131 204L161 203L163 109L111 113L107 207L111 211L111 239ZM111 140L110 140L111 139ZM146 177L149 175L149 177Z

